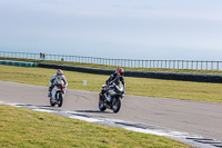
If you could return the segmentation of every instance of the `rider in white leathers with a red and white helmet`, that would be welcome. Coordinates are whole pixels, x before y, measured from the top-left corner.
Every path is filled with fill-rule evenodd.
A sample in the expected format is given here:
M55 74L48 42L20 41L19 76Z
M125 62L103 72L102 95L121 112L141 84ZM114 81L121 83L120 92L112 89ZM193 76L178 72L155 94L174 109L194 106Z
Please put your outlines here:
M68 82L67 82L65 77L63 76L63 71L61 69L58 69L57 73L53 75L51 77L50 81L49 81L50 87L49 87L48 97L51 97L51 95L52 95L53 100L56 99L54 96L56 96L56 92L57 92L56 89L53 89L53 88L60 81L63 81L63 85L64 85L65 88L68 87Z

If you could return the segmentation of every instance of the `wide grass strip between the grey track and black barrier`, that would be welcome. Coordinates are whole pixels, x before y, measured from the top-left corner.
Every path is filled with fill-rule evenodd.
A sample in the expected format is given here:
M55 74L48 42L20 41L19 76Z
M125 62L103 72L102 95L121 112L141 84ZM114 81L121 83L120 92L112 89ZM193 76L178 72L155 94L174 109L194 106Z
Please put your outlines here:
M56 69L24 68L0 65L0 80L49 86ZM65 71L69 89L100 91L109 76ZM87 86L83 86L87 80ZM186 99L195 101L222 102L220 83L158 80L125 77L127 95L160 98Z

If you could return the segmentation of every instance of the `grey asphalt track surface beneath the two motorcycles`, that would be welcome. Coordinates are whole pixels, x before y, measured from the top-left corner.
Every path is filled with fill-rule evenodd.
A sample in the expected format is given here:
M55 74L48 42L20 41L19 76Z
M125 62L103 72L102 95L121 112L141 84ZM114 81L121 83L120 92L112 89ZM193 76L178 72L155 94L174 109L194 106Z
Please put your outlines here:
M0 81L0 101L49 107L48 87ZM61 108L222 140L222 103L125 95L118 114L101 112L99 92L67 90Z

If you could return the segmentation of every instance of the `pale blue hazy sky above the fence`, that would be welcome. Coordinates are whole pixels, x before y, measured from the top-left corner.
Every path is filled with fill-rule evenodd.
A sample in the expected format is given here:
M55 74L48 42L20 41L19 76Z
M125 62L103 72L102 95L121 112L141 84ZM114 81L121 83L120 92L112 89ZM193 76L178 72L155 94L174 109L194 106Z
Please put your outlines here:
M0 51L222 61L222 0L0 0Z

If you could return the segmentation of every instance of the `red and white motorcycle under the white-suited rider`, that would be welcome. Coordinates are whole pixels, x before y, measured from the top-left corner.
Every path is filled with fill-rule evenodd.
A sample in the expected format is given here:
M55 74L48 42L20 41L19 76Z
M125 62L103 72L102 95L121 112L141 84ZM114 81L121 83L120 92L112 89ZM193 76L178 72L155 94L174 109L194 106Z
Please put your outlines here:
M65 96L67 87L61 81L60 83L56 83L53 89L56 89L56 96L54 96L56 100L52 101L53 98L52 98L52 91L51 91L50 105L52 107L54 107L56 105L58 105L58 107L61 107L63 99L64 99L64 96Z

